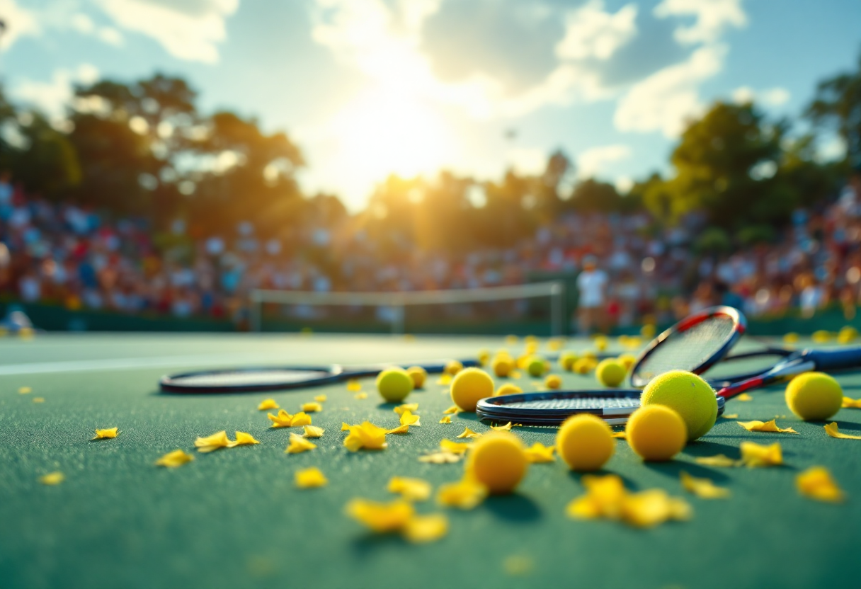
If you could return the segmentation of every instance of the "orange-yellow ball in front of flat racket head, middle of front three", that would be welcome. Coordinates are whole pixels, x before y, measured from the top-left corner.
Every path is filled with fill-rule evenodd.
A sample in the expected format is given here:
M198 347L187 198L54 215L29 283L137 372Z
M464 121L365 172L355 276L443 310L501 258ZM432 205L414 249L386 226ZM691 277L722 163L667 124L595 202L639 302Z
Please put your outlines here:
M556 432L556 452L572 470L598 470L614 451L616 440L610 425L591 413L567 418Z

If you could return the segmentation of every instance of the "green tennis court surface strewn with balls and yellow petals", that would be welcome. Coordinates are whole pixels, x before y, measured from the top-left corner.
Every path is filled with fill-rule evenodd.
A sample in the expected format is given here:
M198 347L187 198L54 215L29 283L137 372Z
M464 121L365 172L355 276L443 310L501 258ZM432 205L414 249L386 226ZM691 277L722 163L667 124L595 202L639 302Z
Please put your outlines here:
M383 451L350 453L342 422L393 427L373 381L357 400L344 384L275 394L159 394L160 375L180 369L246 364L410 362L475 356L504 347L501 338L313 335L43 335L0 340L0 587L813 587L858 586L861 554L861 441L827 437L784 404L783 387L728 402L740 419L800 433L750 433L731 419L689 445L674 462L646 464L621 441L607 472L631 490L661 487L693 507L686 522L637 530L616 522L579 521L565 506L583 493L579 475L534 464L517 494L492 497L473 511L434 501L449 534L428 544L371 536L344 516L354 497L392 499L387 480L413 476L437 485L460 478L462 463L418 462L474 415L437 422L451 405L429 378L418 402L423 425L389 436ZM574 350L585 342L571 342ZM564 375L565 387L592 387L594 376ZM861 397L861 375L841 375L847 396ZM523 379L526 390L535 384ZM19 387L32 387L19 394ZM269 429L260 400L290 412L325 393L313 424L319 448L287 455L290 430ZM44 398L34 403L34 397ZM841 431L861 433L861 410L842 409ZM117 426L115 439L90 441L95 428ZM153 465L173 449L193 451L197 436L247 431L257 446L196 454L175 469ZM552 444L555 431L516 428L525 443ZM739 443L779 441L783 468L705 468L696 456L739 456ZM796 474L830 468L848 498L833 505L802 497ZM294 472L319 467L327 487L294 488ZM65 474L58 486L38 478ZM697 499L680 471L708 477L729 499ZM518 570L511 570L518 561Z

